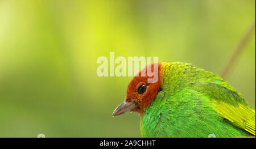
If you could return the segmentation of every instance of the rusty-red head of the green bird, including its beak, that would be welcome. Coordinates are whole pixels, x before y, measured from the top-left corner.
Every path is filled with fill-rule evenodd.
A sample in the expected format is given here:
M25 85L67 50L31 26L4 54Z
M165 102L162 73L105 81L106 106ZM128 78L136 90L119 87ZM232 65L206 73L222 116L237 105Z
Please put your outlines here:
M156 69L157 71L155 71ZM128 84L125 101L118 105L112 116L118 116L126 112L142 114L143 109L151 103L160 90L159 70L160 63L155 63L139 71Z

